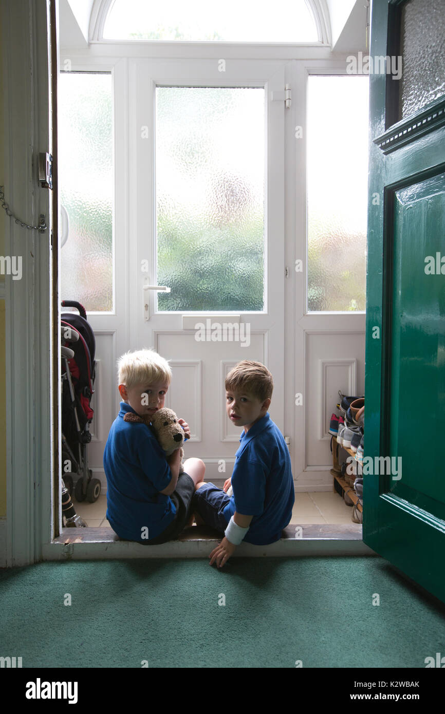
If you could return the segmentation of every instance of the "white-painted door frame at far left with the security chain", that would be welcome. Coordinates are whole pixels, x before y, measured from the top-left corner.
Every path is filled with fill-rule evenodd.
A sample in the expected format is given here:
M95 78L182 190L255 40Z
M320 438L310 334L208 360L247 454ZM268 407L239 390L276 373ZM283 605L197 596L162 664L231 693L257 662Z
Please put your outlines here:
M52 152L49 124L49 0L3 3L5 198L21 221L44 233L5 222L5 253L21 256L21 280L5 280L6 313L6 524L0 531L1 565L34 563L54 530L52 196L38 181L40 152ZM31 73L32 70L32 73ZM31 149L30 149L31 147ZM60 343L60 340L57 340ZM58 420L57 420L58 421ZM54 425L54 426L53 426ZM59 431L60 434L60 431ZM60 499L59 499L60 500ZM56 507L57 508L57 507Z

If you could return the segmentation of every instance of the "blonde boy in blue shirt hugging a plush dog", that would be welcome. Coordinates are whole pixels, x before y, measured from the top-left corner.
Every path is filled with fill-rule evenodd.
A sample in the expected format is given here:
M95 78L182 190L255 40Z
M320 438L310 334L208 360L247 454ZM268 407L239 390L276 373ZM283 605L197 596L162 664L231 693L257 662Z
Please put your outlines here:
M201 459L189 458L179 476L180 450L166 458L150 427L126 421L126 414L152 416L164 406L169 363L154 351L140 350L121 356L118 370L122 401L104 450L106 518L122 540L157 545L189 524L191 498L206 467ZM179 423L190 438L189 425L184 419Z

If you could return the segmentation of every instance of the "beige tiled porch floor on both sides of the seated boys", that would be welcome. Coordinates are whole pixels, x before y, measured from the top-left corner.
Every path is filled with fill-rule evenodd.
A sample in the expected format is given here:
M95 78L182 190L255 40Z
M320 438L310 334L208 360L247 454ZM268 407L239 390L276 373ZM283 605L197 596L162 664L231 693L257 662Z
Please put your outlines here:
M109 526L105 518L106 496L99 496L96 503L77 503L76 513L90 527ZM346 506L343 498L334 491L309 491L296 493L290 525L296 523L352 523L352 506Z

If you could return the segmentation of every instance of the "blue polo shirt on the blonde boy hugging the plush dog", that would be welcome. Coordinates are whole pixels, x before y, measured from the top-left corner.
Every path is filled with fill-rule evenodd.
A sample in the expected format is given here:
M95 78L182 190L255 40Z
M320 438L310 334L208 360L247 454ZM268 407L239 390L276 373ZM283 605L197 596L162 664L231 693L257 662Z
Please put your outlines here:
M176 507L159 493L171 481L164 451L151 428L124 421L127 411L136 413L122 401L104 449L106 518L119 538L144 543L141 528L156 538L173 521Z

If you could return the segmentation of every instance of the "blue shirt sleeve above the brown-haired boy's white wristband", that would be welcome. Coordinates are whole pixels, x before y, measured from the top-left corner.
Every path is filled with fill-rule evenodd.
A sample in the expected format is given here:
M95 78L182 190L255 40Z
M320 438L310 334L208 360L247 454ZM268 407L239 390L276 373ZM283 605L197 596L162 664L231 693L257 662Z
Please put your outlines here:
M235 462L231 477L235 511L244 516L261 516L266 498L266 466L249 458L246 450Z

